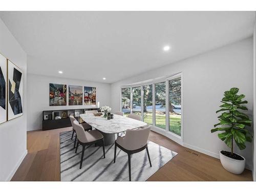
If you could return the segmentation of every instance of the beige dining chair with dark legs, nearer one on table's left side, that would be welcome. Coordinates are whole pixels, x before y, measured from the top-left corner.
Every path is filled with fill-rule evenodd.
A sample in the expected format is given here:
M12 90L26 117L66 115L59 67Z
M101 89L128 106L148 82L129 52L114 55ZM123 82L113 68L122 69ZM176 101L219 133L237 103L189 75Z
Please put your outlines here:
M82 168L83 155L84 155L84 150L86 149L86 145L101 143L102 149L103 149L103 156L105 158L105 146L104 146L103 135L97 130L92 130L92 131L86 132L86 131L84 131L83 127L77 121L74 121L73 123L75 126L76 135L77 135L76 152L78 149L78 145L79 144L82 145L82 156L81 156L81 161L80 161L80 169Z

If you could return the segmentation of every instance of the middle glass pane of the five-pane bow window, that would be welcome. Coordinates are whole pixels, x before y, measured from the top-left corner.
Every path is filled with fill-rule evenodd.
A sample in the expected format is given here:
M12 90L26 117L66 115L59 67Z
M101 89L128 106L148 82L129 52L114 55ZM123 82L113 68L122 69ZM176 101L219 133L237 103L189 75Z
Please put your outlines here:
M143 86L143 119L153 125L153 86Z

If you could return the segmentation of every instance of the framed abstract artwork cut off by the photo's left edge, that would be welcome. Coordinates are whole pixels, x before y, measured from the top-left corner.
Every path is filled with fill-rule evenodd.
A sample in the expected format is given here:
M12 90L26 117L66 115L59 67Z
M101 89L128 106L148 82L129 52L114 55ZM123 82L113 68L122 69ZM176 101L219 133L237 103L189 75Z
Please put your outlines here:
M7 59L0 54L0 124L7 121Z

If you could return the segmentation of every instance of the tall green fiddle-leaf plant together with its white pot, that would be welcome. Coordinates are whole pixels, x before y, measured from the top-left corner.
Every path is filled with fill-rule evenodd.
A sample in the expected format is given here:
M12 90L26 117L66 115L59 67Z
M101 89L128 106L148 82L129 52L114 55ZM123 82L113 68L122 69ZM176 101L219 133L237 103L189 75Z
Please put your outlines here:
M236 142L240 150L245 149L245 142L251 142L252 135L246 129L246 126L251 126L251 120L242 112L248 110L243 104L248 103L242 100L245 95L238 95L238 88L231 88L224 92L222 98L221 109L216 113L223 112L219 117L219 123L215 124L216 131L223 131L218 134L218 137L231 148L231 152L220 151L220 160L222 166L233 174L241 174L245 168L245 158L233 152L233 142ZM219 126L219 127L217 127Z

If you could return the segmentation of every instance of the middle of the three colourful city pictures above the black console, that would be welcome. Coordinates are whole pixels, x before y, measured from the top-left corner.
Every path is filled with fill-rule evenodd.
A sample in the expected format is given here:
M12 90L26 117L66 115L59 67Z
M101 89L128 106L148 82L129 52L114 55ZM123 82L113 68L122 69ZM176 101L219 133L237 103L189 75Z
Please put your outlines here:
M82 105L82 86L69 86L69 105Z

